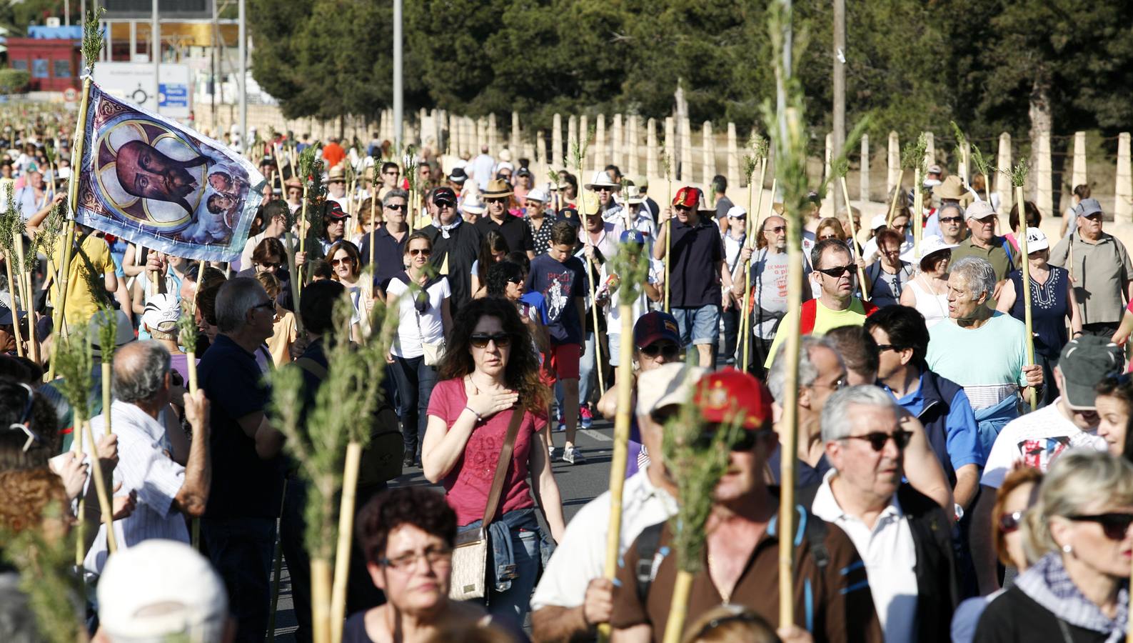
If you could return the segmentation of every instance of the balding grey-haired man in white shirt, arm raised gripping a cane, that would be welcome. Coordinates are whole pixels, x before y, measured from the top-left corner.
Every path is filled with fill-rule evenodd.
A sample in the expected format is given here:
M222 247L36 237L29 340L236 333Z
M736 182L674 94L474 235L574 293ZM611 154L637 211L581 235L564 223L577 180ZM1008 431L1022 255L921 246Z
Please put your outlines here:
M118 435L118 465L112 488L121 485L117 491L121 496L137 494L134 513L113 523L122 548L152 539L188 543L185 517L205 513L212 480L208 400L202 390L185 394L185 416L193 428L188 442L170 407L169 362L169 352L154 340L135 341L114 353L116 399L109 411ZM91 431L101 435L104 426L105 411L91 421ZM105 524L99 526L84 561L92 574L101 574L107 562L105 530Z

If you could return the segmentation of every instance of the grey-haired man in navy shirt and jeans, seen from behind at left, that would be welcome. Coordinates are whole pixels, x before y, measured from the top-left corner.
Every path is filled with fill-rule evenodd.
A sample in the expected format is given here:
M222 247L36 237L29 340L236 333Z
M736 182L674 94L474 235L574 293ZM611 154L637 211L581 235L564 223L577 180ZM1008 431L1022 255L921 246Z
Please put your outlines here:
M264 415L271 388L254 352L272 336L275 303L255 279L237 277L216 295L216 340L201 358L211 400L212 490L201 519L208 556L224 578L237 641L267 627L275 517L283 491L283 437Z

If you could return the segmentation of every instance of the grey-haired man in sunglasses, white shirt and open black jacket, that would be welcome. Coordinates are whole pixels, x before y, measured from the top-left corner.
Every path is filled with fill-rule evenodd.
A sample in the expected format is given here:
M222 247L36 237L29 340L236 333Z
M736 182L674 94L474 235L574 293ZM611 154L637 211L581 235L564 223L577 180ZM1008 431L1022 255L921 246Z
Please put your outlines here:
M826 400L821 425L832 468L811 511L861 555L886 641L940 640L957 598L949 519L901 481L913 433L900 407L880 388L850 387Z

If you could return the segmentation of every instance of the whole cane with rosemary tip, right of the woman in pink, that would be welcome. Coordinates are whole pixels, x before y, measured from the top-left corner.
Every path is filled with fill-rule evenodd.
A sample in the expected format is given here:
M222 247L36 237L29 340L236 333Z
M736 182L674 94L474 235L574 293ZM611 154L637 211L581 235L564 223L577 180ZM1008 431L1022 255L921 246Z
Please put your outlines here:
M633 333L633 302L649 277L649 259L636 244L621 244L611 262L611 272L617 281L611 289L617 291L622 337ZM614 455L610 463L610 531L606 532L606 562L603 576L611 581L617 574L619 542L622 531L622 491L625 484L625 463L629 458L631 397L633 395L633 345L623 341L617 362L617 413L614 416ZM599 636L610 637L610 624L599 626Z

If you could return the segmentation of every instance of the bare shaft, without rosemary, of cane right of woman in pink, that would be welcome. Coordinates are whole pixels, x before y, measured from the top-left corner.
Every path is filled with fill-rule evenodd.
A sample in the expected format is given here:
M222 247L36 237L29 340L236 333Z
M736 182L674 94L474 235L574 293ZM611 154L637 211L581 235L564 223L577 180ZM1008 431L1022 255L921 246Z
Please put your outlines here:
M622 337L633 337L633 302L619 299ZM617 413L614 415L614 455L610 462L610 530L606 532L606 562L603 576L611 581L617 574L622 535L622 492L625 487L625 464L629 459L630 413L633 397L633 345L622 341L617 355ZM659 454L658 454L659 456ZM602 640L610 637L610 624L598 626Z

